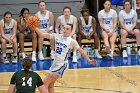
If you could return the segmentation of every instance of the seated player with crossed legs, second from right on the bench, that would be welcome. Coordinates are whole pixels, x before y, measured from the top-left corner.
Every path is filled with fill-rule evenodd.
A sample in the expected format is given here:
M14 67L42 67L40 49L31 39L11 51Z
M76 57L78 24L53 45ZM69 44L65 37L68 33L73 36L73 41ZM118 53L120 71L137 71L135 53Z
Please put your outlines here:
M98 20L101 26L101 35L108 52L107 56L113 59L115 40L117 37L117 13L111 9L111 1L106 0L104 9L99 11Z

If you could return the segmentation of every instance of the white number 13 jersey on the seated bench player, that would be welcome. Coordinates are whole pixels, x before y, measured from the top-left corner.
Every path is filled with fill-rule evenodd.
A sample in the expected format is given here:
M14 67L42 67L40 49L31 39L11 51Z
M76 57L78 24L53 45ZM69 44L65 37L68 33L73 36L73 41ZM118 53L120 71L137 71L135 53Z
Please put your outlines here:
M37 12L37 17L40 19L39 29L48 31L50 27L50 17L49 17L49 11L46 10L46 15L43 17L41 15L41 12Z

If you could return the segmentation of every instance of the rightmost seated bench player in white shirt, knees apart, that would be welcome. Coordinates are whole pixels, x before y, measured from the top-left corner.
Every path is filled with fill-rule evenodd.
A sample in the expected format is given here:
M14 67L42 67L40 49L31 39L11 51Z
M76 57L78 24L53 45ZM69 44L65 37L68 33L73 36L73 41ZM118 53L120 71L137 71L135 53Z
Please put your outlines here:
M124 2L124 9L119 12L119 21L121 25L121 45L122 45L122 56L127 58L126 51L126 37L129 34L136 36L136 42L138 47L138 55L140 56L140 31L137 28L137 13L132 8L130 0Z

